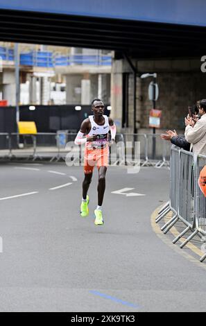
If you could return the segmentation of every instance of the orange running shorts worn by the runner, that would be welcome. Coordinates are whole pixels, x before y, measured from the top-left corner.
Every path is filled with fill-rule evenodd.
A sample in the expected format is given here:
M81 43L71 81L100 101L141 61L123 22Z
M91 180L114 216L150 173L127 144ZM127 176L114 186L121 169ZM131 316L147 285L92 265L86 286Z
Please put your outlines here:
M84 160L84 171L86 174L92 173L94 170L94 166L97 166L97 169L100 166L108 166L109 160L109 148L108 146L105 148L95 148L88 149L85 148L85 160Z

